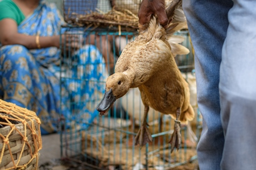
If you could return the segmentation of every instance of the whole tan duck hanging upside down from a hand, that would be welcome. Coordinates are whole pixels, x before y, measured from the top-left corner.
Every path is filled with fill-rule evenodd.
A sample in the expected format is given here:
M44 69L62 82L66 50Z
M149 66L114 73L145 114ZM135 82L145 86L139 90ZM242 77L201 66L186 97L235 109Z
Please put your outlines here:
M144 104L144 116L135 145L143 146L152 141L146 121L151 107L175 119L174 133L170 139L171 152L174 147L177 150L180 147L180 121L191 121L195 114L189 104L188 83L176 65L171 48L177 48L171 41L171 37L175 37L172 34L183 26L175 19L175 9L180 9L180 2L172 1L166 8L167 16L172 19L167 29L158 23L156 16L152 16L147 25L139 25L139 36L123 49L115 65L115 73L106 80L104 98L97 106L103 116L129 88L138 87ZM181 15L180 10L177 13Z

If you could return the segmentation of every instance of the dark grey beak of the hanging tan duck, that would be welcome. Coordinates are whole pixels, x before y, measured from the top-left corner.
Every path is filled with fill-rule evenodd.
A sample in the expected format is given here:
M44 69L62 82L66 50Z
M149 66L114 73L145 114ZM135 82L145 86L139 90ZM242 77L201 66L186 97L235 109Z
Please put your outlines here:
M112 89L110 89L108 92L105 91L104 97L101 100L101 103L97 105L97 111L100 112L101 116L104 116L106 113L108 113L109 109L114 104L115 96L113 95Z

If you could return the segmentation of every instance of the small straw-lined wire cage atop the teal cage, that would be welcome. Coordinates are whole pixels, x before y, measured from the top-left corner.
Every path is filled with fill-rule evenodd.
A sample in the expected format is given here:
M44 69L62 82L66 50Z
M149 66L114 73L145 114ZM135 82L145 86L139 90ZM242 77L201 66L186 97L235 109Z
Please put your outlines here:
M98 27L138 28L138 10L142 0L63 0L68 24Z

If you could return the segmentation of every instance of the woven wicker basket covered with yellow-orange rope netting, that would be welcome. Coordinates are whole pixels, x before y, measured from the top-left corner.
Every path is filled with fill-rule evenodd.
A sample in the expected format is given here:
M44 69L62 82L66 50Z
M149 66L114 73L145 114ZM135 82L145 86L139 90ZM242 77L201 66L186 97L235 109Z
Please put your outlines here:
M0 170L38 169L40 124L35 112L0 100Z

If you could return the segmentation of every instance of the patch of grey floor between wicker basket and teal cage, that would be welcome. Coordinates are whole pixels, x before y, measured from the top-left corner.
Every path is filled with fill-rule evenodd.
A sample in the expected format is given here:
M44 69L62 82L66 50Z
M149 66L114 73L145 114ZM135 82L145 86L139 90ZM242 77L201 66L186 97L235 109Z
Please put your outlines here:
M40 150L39 165L60 159L60 135L42 135L43 147Z

